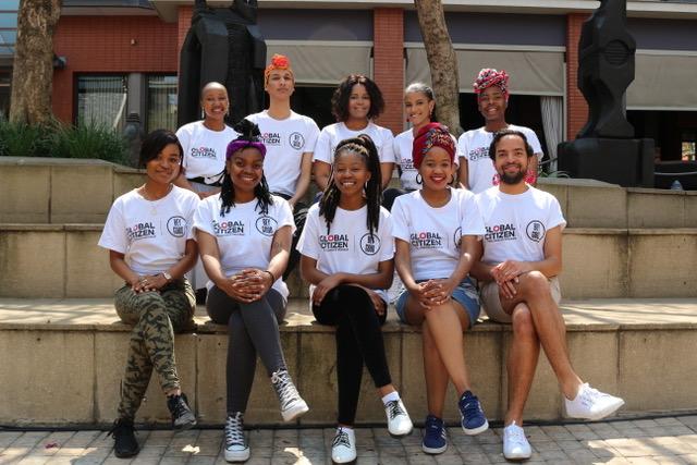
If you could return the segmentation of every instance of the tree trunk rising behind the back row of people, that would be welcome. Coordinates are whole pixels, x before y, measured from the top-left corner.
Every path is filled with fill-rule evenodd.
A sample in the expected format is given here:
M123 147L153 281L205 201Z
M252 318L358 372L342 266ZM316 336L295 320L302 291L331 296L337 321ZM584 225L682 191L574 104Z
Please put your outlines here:
M418 24L431 70L431 85L436 95L438 121L460 136L460 84L457 57L450 40L445 14L440 0L414 0Z

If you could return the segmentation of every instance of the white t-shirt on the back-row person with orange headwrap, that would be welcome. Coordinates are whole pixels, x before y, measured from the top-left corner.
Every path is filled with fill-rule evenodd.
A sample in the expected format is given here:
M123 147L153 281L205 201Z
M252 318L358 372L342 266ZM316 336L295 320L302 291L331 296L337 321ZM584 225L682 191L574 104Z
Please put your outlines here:
M264 174L271 192L294 196L301 176L303 154L314 152L319 127L311 118L291 111L285 120L269 117L267 110L249 114L266 145Z

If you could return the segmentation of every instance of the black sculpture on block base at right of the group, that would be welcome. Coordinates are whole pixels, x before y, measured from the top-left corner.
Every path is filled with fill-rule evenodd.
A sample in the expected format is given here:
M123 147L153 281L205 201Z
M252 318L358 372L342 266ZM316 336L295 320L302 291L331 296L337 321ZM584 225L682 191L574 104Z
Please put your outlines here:
M578 88L588 122L576 140L559 145L559 167L574 178L624 186L653 185L653 140L635 139L624 96L634 81L636 42L626 27L626 0L601 0L578 42Z

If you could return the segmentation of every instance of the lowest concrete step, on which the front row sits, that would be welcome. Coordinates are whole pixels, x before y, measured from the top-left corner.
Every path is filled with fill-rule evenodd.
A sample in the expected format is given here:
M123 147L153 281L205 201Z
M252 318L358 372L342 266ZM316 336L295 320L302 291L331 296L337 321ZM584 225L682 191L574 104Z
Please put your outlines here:
M624 414L695 408L697 299L565 301L572 362L598 389L621 395ZM195 332L176 336L183 389L203 425L223 421L225 327L212 325L199 308ZM337 384L331 327L313 322L305 299L292 299L281 340L298 389L310 406L301 425L332 425ZM119 400L130 327L118 321L111 299L0 299L0 424L105 425ZM395 320L383 329L388 362L413 418L426 415L419 330ZM506 405L505 354L510 327L485 321L465 335L474 391L490 419ZM138 420L167 423L162 394L151 382ZM278 403L260 367L247 423L279 425ZM457 420L455 396L447 419ZM525 416L559 419L562 397L545 355L540 357ZM359 424L384 421L380 401L364 376Z

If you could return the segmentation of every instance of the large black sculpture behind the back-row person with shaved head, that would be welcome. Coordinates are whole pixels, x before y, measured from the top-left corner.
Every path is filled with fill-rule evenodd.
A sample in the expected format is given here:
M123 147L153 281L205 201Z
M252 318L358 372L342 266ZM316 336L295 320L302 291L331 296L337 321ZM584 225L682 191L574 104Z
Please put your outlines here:
M199 93L210 82L228 89L229 124L262 109L266 42L256 20L257 0L234 0L229 8L195 1L180 58L180 126L200 119Z

